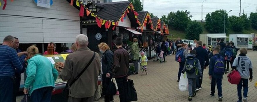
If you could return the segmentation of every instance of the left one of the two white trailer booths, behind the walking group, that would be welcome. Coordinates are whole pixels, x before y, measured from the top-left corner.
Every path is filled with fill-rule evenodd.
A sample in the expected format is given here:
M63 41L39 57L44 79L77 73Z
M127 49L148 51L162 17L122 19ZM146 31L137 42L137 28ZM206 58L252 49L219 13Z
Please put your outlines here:
M200 34L199 37L200 41L205 43L206 46L215 46L217 40L223 38L226 42L226 38L228 38L226 34Z

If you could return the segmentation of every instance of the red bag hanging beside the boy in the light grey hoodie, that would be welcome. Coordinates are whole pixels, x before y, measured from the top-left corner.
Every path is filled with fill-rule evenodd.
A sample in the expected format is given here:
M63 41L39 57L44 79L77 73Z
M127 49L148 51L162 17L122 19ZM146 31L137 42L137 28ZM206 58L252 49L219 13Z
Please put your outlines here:
M238 57L237 65L239 64L239 60L240 60L240 57ZM241 75L240 75L240 73L237 70L234 70L231 73L229 73L227 77L228 77L228 81L231 84L238 85L240 80L241 80Z

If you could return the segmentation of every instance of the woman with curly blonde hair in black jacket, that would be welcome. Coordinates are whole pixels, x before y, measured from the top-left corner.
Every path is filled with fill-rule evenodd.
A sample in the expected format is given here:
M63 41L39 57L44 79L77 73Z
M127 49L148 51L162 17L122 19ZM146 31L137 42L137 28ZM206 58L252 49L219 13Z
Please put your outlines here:
M113 95L106 94L107 86L112 79L112 65L113 65L113 53L110 47L106 43L100 43L98 45L99 51L103 54L101 58L102 63L102 78L103 78L103 94L105 95L105 102L113 101Z

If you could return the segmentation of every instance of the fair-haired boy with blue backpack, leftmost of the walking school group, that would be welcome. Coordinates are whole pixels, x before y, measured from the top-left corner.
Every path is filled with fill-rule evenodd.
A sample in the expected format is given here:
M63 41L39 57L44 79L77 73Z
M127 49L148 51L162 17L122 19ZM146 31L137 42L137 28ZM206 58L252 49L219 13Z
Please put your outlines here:
M176 53L176 57L175 57L175 60L177 62L179 62L179 72L178 72L178 80L177 82L179 82L179 79L180 79L180 75L181 75L181 71L183 70L184 68L184 65L185 65L185 59L187 58L187 54L188 54L188 46L187 44L183 43L181 44L182 48L179 48L177 53Z

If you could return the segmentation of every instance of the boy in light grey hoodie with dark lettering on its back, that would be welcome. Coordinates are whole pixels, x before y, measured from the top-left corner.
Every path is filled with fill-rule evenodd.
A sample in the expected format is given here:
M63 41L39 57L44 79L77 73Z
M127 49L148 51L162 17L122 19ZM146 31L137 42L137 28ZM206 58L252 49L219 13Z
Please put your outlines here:
M243 87L243 101L247 102L247 93L248 93L248 78L250 82L253 80L253 65L251 60L249 59L247 54L246 48L240 49L240 54L238 57L235 58L235 61L232 65L234 70L238 70L241 76L241 80L237 85L237 94L238 94L238 101L242 102L242 87Z

